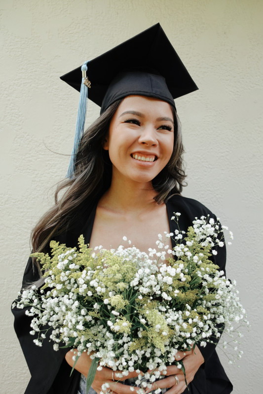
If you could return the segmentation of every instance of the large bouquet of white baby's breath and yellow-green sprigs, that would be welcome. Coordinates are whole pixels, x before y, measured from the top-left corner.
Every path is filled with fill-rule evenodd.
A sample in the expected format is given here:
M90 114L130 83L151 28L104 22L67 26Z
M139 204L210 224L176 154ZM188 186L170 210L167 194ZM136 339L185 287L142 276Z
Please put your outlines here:
M173 250L165 245L171 236ZM79 250L51 241L51 257L32 255L42 264L45 284L22 290L14 306L31 306L26 314L33 316L36 345L49 335L55 350L61 344L76 349L75 362L82 352L90 355L87 391L97 368L123 376L154 370L148 373L153 382L169 364L184 368L175 361L177 351L217 342L223 328L233 335L234 323L248 324L235 283L209 260L224 246L218 221L196 218L187 234L176 230L158 238L148 254L130 241L127 248L92 250L80 236Z

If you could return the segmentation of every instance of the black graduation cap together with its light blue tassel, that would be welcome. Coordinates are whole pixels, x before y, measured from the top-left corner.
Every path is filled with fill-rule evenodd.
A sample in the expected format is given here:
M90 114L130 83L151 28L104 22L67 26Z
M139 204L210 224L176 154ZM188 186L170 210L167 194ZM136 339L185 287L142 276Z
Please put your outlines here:
M74 174L84 131L87 96L103 113L113 102L130 95L154 97L175 107L174 99L198 89L159 23L61 79L80 91L69 177Z

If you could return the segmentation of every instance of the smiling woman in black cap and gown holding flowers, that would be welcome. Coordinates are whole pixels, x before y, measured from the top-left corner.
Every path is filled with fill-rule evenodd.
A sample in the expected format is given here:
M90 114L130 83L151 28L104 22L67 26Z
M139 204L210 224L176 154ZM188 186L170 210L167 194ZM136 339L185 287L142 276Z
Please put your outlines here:
M154 45L146 56L149 40ZM140 68L132 65L134 48L136 58L138 52L139 58L140 55L144 58L140 60ZM177 67L177 78L163 66L163 51ZM149 70L147 63L152 53L159 53L154 71ZM105 62L105 56L106 59L114 58L115 64ZM109 65L110 74L107 76L110 81L104 84L107 86L99 87L95 73L90 77L92 67L96 72L99 67L95 61L93 66L90 62L90 92L93 86L95 91L89 92L89 97L102 106L101 116L80 141L72 178L60 186L55 206L33 231L34 251L47 251L49 241L54 238L68 246L76 246L78 236L83 233L91 248L101 244L107 249L116 248L126 235L137 248L147 252L154 247L158 233L176 230L176 223L171 221L174 212L181 213L181 230L187 230L195 217L213 215L199 202L180 195L185 173L174 98L195 90L196 85L160 25L114 48L103 59L97 59L99 65ZM127 69L127 62L132 69ZM150 65L152 62L150 59ZM103 78L101 72L99 74ZM62 79L76 87L72 73ZM57 201L58 192L66 187L64 196ZM224 248L220 248L213 259L220 269L225 269ZM23 286L34 281L40 285L42 279L38 272L30 259ZM24 310L15 309L14 315L15 329L32 375L26 393L84 394L84 377L91 365L89 356L81 355L70 377L73 353L68 349L54 352L52 344L46 340L42 348L36 347L34 338L29 335L30 318ZM214 344L207 344L205 348L197 344L194 352L179 352L177 358L184 359L190 393L228 394L232 391ZM106 382L110 393L130 393L137 373L129 373L125 382L124 379L116 382L114 374L107 367L97 371L90 394L93 390L100 393ZM168 366L166 376L152 387L153 390L157 388L170 394L187 393L182 370L176 365ZM134 387L134 390L139 388Z

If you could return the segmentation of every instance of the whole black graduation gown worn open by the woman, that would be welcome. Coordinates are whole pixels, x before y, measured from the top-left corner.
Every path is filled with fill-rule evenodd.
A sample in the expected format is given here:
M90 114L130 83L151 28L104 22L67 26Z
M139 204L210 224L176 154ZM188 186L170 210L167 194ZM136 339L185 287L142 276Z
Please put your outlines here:
M75 218L75 227L56 237L61 243L69 247L77 246L77 239L84 234L85 242L91 237L95 213L95 204L86 204ZM209 209L196 200L179 195L171 196L166 202L169 218L170 231L176 230L177 226L171 217L174 212L180 212L180 230L187 230L192 225L195 217L200 218L208 214L215 218ZM174 245L173 245L174 246ZM211 259L219 265L220 270L225 270L225 247L218 248L218 254ZM33 270L32 260L29 259L23 278L23 286L38 279L38 274ZM53 350L53 344L48 339L43 341L42 347L33 342L34 336L30 335L31 318L25 315L25 309L12 309L15 317L14 328L17 333L24 356L28 363L31 379L25 394L76 394L80 374L75 370L70 377L71 367L65 361L65 354L69 349ZM216 345L207 344L199 347L205 362L196 372L193 381L189 384L190 394L229 394L232 392L232 384L228 380L224 368L221 365L215 351Z

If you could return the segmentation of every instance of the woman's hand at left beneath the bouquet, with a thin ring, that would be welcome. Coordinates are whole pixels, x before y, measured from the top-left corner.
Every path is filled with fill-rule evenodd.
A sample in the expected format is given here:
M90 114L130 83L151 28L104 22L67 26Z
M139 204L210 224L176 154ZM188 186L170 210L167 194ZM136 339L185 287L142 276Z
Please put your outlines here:
M73 366L74 362L75 362L72 359L73 356L74 356L74 353L71 351L68 352L65 356L65 359L70 366ZM87 377L89 368L91 366L91 362L92 362L92 360L87 355L87 353L83 352L75 364L75 369ZM100 392L102 391L102 385L105 383L108 383L109 387L107 388L105 393L131 394L131 390L130 390L131 386L123 385L122 383L119 383L119 382L121 382L125 379L134 378L134 377L138 376L138 373L135 371L129 372L128 375L123 376L121 378L118 377L118 373L121 374L120 371L113 371L111 368L103 366L100 371L97 370L91 387L95 390L96 393L100 394ZM113 380L113 378L114 378L114 380ZM139 387L134 387L134 391L137 392L138 390L140 390Z

